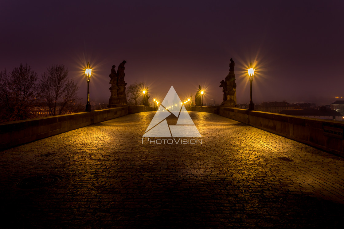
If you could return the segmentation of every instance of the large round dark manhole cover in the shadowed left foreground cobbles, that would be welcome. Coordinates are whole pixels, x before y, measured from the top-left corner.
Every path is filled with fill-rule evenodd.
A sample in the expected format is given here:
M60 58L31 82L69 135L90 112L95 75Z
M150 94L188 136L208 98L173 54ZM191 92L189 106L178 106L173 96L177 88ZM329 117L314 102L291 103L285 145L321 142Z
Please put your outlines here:
M47 187L60 182L63 179L59 175L43 175L25 178L18 182L17 187L19 188L41 188Z

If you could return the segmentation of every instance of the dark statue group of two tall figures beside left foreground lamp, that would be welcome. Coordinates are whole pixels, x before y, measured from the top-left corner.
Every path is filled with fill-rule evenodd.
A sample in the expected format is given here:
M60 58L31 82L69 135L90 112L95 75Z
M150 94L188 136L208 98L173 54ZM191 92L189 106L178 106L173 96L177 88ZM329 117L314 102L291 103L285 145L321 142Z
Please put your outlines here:
M109 88L111 91L111 96L109 99L109 108L117 107L117 106L126 106L127 105L127 97L126 97L126 85L127 83L124 81L124 65L127 61L123 60L117 69L115 69L115 65L112 65L110 77L110 84L111 87Z

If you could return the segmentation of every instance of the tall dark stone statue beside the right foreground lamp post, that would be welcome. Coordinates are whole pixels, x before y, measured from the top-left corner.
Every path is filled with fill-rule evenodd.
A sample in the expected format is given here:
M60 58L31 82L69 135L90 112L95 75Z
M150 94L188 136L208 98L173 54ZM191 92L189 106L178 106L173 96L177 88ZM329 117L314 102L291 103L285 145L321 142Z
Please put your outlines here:
M225 80L222 80L219 86L222 87L223 91L223 106L236 106L236 83L235 83L235 74L234 74L235 62L230 58L229 64L229 73L226 76Z

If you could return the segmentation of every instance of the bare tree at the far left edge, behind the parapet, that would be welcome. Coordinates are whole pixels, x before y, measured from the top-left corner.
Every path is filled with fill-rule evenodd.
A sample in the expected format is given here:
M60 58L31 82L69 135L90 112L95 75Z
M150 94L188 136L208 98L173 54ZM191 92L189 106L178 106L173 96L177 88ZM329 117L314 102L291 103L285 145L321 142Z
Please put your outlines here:
M20 64L11 73L0 72L1 121L33 118L34 101L39 90L37 73L28 64Z

